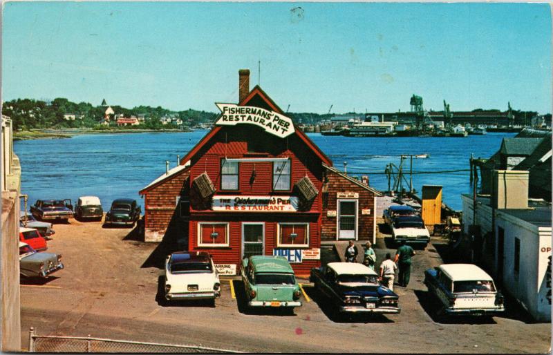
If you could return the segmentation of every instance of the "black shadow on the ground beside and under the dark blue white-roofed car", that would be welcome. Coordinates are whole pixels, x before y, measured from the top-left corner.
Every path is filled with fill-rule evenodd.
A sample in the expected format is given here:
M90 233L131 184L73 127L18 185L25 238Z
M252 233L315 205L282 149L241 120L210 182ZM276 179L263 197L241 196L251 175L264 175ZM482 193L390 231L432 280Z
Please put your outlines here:
M303 291L313 302L317 303L324 315L334 323L394 323L393 320L382 314L340 314L336 305L331 303L315 287L303 287Z

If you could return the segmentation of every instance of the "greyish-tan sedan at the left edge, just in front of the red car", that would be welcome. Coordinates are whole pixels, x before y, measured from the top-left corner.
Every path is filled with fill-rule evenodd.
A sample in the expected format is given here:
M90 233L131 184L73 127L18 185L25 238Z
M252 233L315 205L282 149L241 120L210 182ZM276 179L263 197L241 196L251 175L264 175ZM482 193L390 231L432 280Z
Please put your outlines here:
M37 253L29 244L19 242L19 274L26 278L47 278L64 268L62 256L55 253Z

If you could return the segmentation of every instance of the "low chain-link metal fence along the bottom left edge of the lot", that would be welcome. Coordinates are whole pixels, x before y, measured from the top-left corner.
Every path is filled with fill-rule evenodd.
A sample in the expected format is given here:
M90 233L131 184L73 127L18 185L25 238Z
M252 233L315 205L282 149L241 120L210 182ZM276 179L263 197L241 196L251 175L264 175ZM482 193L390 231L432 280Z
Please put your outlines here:
M198 345L144 343L140 341L92 338L91 336L45 336L29 331L29 352L113 352L113 353L240 353Z

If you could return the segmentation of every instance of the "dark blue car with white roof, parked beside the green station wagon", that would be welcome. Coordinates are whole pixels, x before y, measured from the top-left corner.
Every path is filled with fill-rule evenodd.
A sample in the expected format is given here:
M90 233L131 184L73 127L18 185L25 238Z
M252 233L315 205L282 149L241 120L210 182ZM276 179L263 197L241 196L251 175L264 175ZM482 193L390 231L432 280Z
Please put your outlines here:
M400 298L378 282L375 271L355 262L329 262L311 269L309 280L340 313L399 314Z

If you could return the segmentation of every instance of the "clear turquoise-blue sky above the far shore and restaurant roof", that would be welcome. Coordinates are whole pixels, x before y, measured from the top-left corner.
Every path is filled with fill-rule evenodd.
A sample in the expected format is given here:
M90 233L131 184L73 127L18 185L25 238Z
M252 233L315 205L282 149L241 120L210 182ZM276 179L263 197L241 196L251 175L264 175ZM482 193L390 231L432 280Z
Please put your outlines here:
M546 3L8 2L2 100L216 112L251 70L283 110L552 111ZM258 64L261 62L261 75Z

